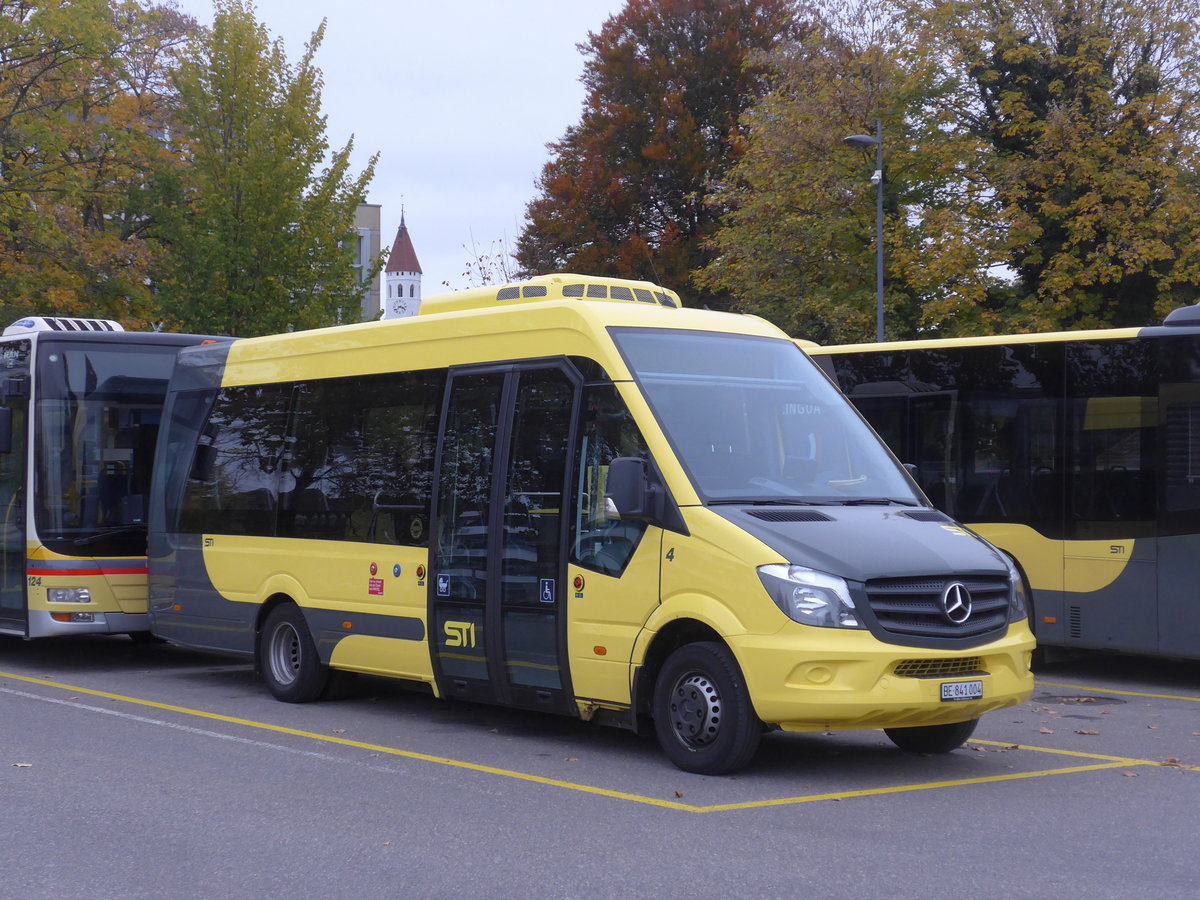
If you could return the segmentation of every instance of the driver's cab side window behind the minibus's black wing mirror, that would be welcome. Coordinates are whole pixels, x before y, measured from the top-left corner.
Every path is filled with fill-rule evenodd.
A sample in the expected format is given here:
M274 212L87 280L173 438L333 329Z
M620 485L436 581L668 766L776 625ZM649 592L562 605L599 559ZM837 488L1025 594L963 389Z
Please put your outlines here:
M619 456L649 458L649 450L612 384L586 388L582 407L570 559L587 569L619 575L634 556L646 523L623 521L605 510L608 466Z

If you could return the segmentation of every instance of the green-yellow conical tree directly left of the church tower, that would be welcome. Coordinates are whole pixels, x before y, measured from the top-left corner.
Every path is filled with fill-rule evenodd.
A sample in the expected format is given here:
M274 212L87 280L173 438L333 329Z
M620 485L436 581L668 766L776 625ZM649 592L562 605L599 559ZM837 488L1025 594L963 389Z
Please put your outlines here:
M247 0L217 0L175 77L186 166L163 181L158 290L181 329L254 335L358 322L354 211L376 158L330 150L314 56L290 65ZM367 275L373 275L368 272Z

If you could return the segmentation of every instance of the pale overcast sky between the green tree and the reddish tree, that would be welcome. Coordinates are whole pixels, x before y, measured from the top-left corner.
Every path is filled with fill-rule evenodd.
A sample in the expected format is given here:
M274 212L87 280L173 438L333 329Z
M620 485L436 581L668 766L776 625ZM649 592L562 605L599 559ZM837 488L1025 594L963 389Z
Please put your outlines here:
M203 24L211 0L176 0ZM367 202L384 248L404 205L425 296L469 287L472 241L516 240L546 144L578 121L576 44L623 0L257 0L295 62L328 19L317 65L329 142L379 152Z

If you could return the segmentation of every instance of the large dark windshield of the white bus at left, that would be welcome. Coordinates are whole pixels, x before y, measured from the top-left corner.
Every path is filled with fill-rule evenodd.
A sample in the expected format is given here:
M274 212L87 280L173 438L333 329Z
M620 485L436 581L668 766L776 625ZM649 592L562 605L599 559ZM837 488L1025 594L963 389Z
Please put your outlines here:
M38 536L73 556L145 554L154 448L179 348L38 349Z

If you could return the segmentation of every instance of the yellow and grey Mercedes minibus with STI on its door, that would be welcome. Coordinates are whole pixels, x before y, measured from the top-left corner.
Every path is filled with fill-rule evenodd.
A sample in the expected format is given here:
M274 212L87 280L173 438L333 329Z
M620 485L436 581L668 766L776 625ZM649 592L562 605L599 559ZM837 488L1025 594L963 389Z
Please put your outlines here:
M769 730L944 752L1032 689L1012 562L786 335L655 284L188 348L166 416L151 629L283 701L386 676L719 774Z

